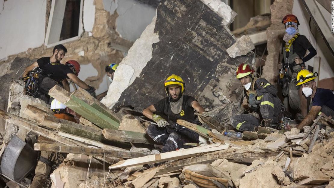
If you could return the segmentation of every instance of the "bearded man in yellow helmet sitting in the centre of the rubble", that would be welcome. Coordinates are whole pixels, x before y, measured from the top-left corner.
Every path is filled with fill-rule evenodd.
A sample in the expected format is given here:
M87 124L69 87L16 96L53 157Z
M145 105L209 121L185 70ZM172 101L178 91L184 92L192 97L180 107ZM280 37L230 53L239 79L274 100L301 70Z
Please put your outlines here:
M143 114L155 121L147 128L147 134L156 142L164 145L162 152L175 151L180 148L189 148L184 143L199 142L199 135L183 126L176 124L176 120L185 120L199 124L194 109L203 113L203 107L191 96L183 95L185 83L183 79L172 74L165 80L165 90L168 97L144 109ZM158 114L160 112L167 119Z

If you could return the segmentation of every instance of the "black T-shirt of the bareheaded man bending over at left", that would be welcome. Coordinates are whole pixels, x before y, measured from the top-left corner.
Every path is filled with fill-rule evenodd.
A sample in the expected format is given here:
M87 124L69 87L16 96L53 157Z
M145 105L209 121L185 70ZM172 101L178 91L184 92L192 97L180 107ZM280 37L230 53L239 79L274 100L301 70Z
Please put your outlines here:
M61 64L60 62L50 62L50 57L42 57L37 59L38 67L41 68L44 76L59 82L67 77L68 73L73 73L69 66Z

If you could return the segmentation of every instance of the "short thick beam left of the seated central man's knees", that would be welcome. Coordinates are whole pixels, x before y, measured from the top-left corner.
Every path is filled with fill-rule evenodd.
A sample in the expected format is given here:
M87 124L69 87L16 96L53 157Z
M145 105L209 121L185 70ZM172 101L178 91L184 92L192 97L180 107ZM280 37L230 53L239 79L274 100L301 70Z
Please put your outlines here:
M115 140L120 142L154 144L154 141L147 139L145 133L138 133L133 131L123 131L114 129L104 129L102 134L108 140Z

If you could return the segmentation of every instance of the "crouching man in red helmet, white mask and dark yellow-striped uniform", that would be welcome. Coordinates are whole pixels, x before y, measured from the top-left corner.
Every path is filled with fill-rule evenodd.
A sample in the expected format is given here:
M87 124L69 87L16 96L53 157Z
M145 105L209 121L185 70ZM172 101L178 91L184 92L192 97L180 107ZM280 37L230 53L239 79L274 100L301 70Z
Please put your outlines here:
M236 69L236 78L244 87L243 99L248 101L249 109L245 111L252 113L231 117L230 124L240 132L256 131L263 122L265 127L276 128L283 118L283 105L277 97L277 88L268 80L255 77L254 72L252 66L244 63Z

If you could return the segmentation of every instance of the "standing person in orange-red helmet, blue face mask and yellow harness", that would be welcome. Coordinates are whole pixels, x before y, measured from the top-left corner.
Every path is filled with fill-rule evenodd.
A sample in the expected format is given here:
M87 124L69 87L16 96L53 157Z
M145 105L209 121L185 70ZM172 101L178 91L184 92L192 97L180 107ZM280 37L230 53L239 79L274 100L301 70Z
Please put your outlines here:
M279 83L282 86L285 107L290 106L296 112L295 119L301 121L304 117L301 114L301 100L298 95L300 87L296 86L291 79L297 76L297 73L305 67L305 62L314 57L317 51L306 36L299 34L299 21L295 15L286 15L282 23L286 28L286 33L283 37L283 59L277 66L281 70Z

